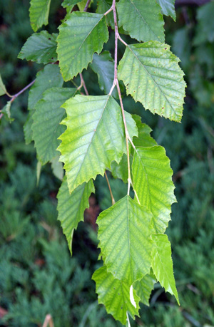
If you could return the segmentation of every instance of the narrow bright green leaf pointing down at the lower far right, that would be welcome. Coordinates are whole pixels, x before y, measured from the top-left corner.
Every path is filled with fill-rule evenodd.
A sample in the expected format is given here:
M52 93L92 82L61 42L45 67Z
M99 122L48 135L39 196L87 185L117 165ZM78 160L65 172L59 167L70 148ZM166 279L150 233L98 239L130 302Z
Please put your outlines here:
M180 305L173 275L173 260L168 237L165 234L155 234L152 236L152 240L152 268L156 279L160 281L165 291L175 296Z

